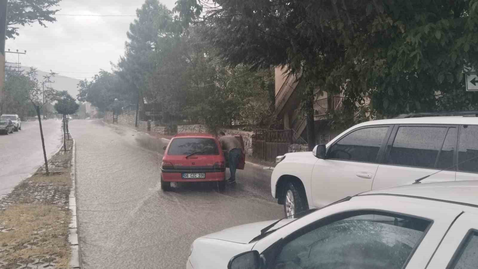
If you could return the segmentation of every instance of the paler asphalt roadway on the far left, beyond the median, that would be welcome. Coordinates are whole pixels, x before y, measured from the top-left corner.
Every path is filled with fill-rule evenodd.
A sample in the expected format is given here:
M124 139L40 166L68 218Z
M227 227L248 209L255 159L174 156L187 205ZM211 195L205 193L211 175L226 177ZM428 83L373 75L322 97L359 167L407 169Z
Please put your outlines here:
M61 146L61 121L42 121L47 157ZM0 134L0 197L43 165L42 139L37 121L22 122L22 130Z

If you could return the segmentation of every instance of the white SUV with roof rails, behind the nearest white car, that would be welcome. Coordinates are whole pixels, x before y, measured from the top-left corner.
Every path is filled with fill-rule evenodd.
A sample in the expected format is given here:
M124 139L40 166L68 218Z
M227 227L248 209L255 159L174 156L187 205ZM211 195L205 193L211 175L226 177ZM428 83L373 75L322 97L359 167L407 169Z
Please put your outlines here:
M458 115L415 114L360 123L313 152L278 156L272 196L290 216L417 179L477 180L478 112Z

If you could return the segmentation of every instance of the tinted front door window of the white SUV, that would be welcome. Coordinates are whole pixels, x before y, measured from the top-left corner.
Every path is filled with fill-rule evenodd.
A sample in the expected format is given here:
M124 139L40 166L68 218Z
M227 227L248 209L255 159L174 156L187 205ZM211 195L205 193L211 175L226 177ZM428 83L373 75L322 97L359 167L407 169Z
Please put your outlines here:
M377 154L389 127L364 128L347 134L330 147L328 158L377 162Z

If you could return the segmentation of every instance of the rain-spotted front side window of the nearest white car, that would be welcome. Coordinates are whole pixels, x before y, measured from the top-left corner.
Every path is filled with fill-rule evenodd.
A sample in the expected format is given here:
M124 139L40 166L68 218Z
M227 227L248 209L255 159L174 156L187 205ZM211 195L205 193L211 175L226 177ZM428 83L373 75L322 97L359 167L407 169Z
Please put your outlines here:
M400 269L430 224L388 213L339 215L334 221L305 227L304 232L288 240L272 267Z

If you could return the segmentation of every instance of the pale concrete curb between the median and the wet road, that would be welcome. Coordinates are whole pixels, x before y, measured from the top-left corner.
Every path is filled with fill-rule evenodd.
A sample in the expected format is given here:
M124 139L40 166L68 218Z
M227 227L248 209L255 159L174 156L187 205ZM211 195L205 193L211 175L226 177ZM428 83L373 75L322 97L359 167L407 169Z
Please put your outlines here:
M81 268L81 251L78 240L78 218L76 217L76 142L73 139L73 147L71 153L71 189L68 197L68 208L71 211L71 222L69 225L68 241L71 246L70 268Z

